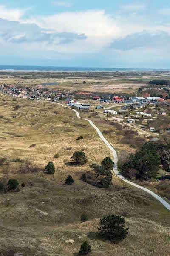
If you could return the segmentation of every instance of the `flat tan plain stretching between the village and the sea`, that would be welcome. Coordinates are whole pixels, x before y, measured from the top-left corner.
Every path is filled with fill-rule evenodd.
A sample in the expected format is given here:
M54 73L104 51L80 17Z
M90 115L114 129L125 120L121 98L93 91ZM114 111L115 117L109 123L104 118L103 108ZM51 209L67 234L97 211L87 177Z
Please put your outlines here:
M0 83L8 85L24 87L54 82L58 85L50 85L50 88L100 93L133 93L157 78L170 79L170 72L0 72Z

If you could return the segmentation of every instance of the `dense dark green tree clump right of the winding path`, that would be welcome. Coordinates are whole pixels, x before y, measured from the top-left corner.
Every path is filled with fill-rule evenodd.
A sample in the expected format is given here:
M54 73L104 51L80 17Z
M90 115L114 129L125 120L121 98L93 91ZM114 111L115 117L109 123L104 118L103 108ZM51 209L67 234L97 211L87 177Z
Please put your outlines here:
M130 154L120 168L129 179L150 180L157 178L160 165L170 171L170 144L146 142L136 154Z

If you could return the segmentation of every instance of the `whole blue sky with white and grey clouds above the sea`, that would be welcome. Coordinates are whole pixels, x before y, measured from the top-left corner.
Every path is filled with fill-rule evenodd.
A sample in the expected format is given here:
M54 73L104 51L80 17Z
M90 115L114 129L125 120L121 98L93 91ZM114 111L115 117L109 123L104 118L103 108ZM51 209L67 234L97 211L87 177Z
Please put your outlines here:
M170 1L0 0L0 65L170 69Z

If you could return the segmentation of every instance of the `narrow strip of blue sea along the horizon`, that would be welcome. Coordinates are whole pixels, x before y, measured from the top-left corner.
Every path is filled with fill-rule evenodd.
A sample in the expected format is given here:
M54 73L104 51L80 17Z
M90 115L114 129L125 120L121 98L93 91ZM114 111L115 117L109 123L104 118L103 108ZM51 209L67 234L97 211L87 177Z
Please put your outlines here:
M90 67L57 67L57 66L16 66L0 65L2 72L137 72L137 71L170 71L170 69L147 69L147 68L90 68Z

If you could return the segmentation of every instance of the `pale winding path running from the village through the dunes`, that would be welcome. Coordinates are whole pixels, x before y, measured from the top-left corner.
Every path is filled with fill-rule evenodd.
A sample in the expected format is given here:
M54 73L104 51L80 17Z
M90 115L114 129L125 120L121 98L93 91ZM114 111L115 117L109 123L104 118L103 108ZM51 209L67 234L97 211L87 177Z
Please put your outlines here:
M64 106L60 103L57 103L65 108L68 108L68 106ZM71 109L71 108L69 108ZM72 111L74 111L77 115L78 118L81 118L80 115L79 115L79 112L75 109L71 109ZM82 119L85 119L85 118L82 118ZM167 208L169 211L170 211L170 204L167 203L163 198L159 197L157 194L153 193L152 191L150 191L149 189L147 188L144 188L142 186L139 186L131 181L129 181L128 179L126 179L125 177L123 177L120 173L119 173L119 170L117 168L117 163L118 163L118 156L117 156L117 153L116 153L116 150L113 148L113 146L105 139L105 137L102 135L102 132L100 132L99 128L96 127L96 125L90 120L90 119L85 119L87 120L92 127L94 127L94 129L96 130L96 132L98 133L99 137L102 139L103 142L105 142L105 144L108 146L108 148L112 151L113 153L113 157L114 157L114 166L113 166L113 171L114 173L120 178L122 179L124 182L136 187L136 188L139 188L139 189L142 189L143 191L147 192L148 194L152 195L154 198L156 198L161 204L164 205L165 208Z

